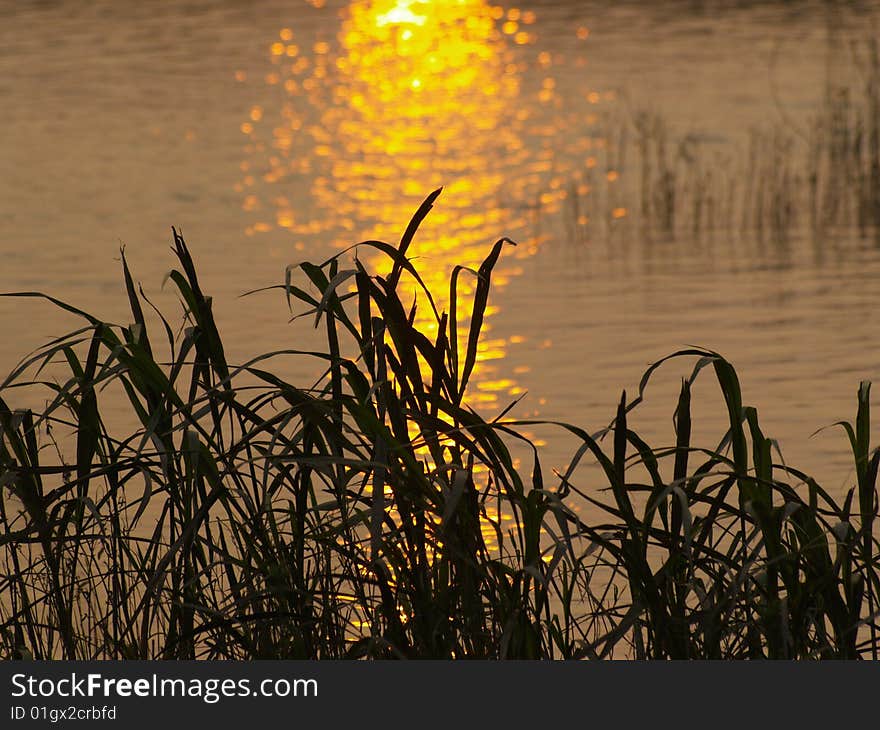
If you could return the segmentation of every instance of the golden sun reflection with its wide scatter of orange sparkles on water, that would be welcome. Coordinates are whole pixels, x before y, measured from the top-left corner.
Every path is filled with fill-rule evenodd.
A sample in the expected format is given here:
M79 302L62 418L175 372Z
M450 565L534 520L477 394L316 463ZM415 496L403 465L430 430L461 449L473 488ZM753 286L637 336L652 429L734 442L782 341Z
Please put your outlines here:
M493 276L503 288L520 271L512 260L538 250L535 211L559 208L592 146L569 139L559 154L566 124L552 54L524 53L535 21L533 11L485 0L366 0L342 13L335 38L306 41L282 28L264 78L272 93L241 126L238 189L254 219L246 233L285 231L299 251L395 243L427 193L443 187L409 251L425 283L448 306L452 268L476 269L510 235L520 245ZM474 280L459 283L468 311ZM490 302L468 395L475 406L504 406L522 392L516 374L497 368L512 340L492 335L495 314ZM417 320L436 328L427 307Z

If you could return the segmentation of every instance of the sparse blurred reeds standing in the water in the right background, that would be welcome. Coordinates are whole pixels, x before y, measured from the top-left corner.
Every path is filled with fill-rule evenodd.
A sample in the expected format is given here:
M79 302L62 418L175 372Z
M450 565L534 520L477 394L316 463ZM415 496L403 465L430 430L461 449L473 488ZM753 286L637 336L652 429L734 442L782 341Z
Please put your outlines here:
M745 145L676 131L680 125L656 111L609 112L596 166L577 172L567 193L568 240L606 238L627 224L648 240L722 233L785 244L796 234L822 238L841 228L876 236L880 51L875 38L849 51L837 49L852 60L829 71L814 115L783 113L749 130Z

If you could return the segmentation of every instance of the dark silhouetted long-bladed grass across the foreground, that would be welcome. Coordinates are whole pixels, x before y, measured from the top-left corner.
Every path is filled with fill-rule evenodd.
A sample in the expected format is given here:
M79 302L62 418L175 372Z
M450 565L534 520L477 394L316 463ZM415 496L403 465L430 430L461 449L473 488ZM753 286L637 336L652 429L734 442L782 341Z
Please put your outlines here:
M124 254L131 324L6 295L83 320L0 386L7 656L876 658L869 385L842 424L857 474L842 503L774 460L733 367L699 349L652 366L607 428L556 424L580 447L546 474L524 434L534 423L487 420L467 400L510 242L453 271L446 311L407 258L438 193L398 245L365 242L272 287L321 328L322 351L229 363L176 231L176 334ZM291 356L324 376L285 381L273 366ZM670 359L692 374L670 444L652 447L629 418ZM60 380L41 375L59 364ZM691 442L706 373L729 416L709 446ZM45 406L10 408L19 387ZM105 415L112 389L134 429Z

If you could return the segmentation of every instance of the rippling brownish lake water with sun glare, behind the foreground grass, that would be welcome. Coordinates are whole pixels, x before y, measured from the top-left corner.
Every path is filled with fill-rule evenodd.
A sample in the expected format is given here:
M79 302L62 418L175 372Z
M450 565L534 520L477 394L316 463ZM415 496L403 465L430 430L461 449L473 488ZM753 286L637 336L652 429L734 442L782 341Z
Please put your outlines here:
M243 361L310 332L281 297L239 294L345 244L395 241L442 185L413 249L432 286L503 235L519 243L495 279L475 406L492 414L527 392L514 415L595 430L648 364L699 345L736 365L787 461L843 488L842 431L810 436L854 418L859 381L880 378L876 237L845 220L817 234L803 208L768 230L724 200L798 159L786 147L767 163L762 150L785 145L755 139L809 138L827 90L858 83L880 4L660 5L3 3L0 290L125 323L124 243L173 313L161 285L175 225ZM689 200L704 183L727 191L700 198L699 225L658 230L637 210L639 124L655 118L641 142L666 140ZM0 369L74 324L0 300ZM649 388L636 418L649 441L672 439L692 365L670 363ZM724 421L707 376L696 435L713 441ZM564 466L571 442L537 435Z

